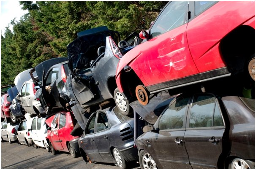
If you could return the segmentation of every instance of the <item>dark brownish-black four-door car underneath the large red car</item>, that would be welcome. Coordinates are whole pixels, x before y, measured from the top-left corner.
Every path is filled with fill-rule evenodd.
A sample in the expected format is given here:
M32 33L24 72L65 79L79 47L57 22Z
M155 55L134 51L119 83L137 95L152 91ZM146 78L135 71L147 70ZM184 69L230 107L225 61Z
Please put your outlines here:
M255 169L255 99L181 94L136 139L143 169Z

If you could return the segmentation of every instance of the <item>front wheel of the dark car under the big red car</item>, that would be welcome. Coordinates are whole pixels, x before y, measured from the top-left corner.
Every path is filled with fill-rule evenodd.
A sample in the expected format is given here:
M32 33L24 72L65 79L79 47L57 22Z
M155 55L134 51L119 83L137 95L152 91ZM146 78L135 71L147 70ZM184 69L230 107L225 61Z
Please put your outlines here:
M154 159L146 151L139 152L139 165L142 169L158 169Z

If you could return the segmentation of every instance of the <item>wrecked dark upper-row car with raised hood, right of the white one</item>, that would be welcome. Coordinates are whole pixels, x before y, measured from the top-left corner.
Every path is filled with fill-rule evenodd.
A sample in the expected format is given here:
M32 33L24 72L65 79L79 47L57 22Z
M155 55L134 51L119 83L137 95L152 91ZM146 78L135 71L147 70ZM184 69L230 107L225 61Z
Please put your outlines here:
M36 113L37 116L45 117L54 113L53 110L65 108L65 101L60 97L60 92L69 73L67 57L46 60L30 70L30 76L37 89L35 100L40 101L43 108Z

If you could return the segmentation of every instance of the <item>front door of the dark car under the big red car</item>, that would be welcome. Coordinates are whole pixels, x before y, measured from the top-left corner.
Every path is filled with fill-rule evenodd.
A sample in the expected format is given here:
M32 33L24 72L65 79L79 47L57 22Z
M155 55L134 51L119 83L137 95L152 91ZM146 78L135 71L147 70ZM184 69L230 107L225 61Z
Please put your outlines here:
M147 140L147 145L153 150L163 169L191 169L184 143L189 101L190 97L178 97L172 101L155 123L159 132L154 133L151 140Z

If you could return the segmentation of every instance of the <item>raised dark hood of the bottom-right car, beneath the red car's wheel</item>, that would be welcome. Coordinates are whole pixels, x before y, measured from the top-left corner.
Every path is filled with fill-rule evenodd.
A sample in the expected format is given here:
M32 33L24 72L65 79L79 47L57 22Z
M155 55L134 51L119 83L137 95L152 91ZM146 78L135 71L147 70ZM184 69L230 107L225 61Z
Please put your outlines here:
M134 101L130 105L145 121L150 124L155 124L158 116L173 99L174 97L170 96L169 93L161 92L158 96L150 99L150 103L147 105L141 105L138 100Z

